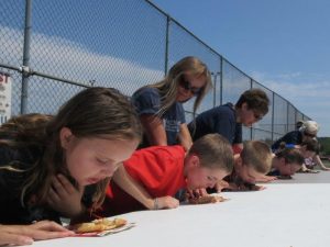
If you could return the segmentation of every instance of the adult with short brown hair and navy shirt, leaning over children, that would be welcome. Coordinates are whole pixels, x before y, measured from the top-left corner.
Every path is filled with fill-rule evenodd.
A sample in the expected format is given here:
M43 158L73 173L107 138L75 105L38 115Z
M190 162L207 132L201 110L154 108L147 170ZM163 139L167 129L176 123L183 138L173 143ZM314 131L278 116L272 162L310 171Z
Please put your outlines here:
M188 124L188 128L196 141L210 133L224 136L240 153L242 144L242 124L251 126L260 121L268 112L270 99L261 89L250 89L243 92L233 105L227 103L200 113L195 121Z

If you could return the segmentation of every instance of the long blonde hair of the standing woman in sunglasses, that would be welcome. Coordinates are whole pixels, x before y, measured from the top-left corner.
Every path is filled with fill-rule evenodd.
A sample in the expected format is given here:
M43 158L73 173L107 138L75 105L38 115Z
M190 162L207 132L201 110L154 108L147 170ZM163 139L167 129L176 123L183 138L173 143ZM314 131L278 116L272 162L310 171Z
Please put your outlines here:
M157 115L162 116L176 101L179 82L183 80L185 74L190 74L196 77L206 77L206 85L201 88L200 93L197 94L197 98L194 102L193 114L195 116L201 100L212 87L211 74L208 67L197 57L185 57L180 59L169 69L168 74L163 80L145 86L148 88L155 88L160 92L162 105Z

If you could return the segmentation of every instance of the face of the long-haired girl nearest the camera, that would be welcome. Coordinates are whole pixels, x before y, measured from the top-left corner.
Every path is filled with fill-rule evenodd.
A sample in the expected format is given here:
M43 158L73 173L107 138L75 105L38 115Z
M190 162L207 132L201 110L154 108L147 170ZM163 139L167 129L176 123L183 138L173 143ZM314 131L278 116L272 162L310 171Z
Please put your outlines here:
M131 157L139 144L131 139L77 138L66 127L61 131L61 143L67 169L80 186L112 177L119 165Z

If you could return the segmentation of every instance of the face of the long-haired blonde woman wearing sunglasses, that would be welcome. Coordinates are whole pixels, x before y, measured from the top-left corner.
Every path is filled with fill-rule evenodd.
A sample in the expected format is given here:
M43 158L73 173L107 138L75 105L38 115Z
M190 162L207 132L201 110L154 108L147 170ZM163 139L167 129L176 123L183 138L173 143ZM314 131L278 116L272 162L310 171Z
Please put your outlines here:
M186 102L194 96L198 96L206 86L206 76L191 76L189 74L183 75L179 80L179 87L176 96L176 101Z

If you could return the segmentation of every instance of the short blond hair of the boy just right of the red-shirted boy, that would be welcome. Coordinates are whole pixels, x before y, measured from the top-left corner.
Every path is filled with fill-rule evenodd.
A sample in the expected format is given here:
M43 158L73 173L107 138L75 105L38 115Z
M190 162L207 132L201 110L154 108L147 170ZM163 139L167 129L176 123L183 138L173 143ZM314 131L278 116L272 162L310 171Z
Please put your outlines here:
M272 167L272 150L265 142L246 141L241 151L243 165L257 172L267 173Z

